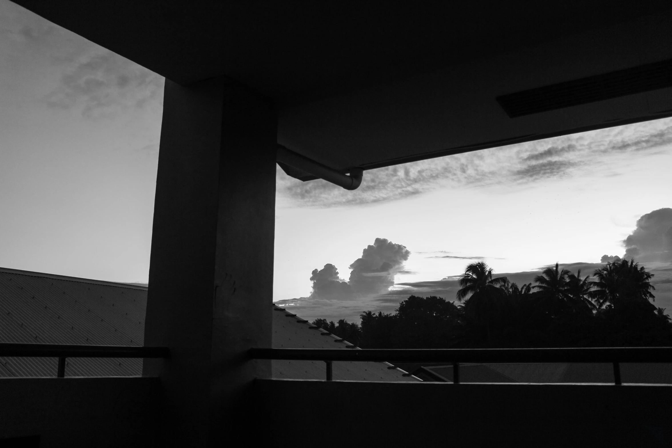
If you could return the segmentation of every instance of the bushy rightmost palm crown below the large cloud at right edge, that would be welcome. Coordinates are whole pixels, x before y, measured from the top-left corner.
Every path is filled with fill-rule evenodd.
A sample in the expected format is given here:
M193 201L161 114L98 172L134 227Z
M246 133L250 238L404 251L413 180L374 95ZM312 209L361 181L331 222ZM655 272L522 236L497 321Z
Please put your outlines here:
M595 278L597 281L591 281L595 288L591 291L591 298L597 306L616 306L625 300L655 300L651 290L656 288L650 283L653 274L640 267L634 259L629 263L627 260L607 263L595 270Z

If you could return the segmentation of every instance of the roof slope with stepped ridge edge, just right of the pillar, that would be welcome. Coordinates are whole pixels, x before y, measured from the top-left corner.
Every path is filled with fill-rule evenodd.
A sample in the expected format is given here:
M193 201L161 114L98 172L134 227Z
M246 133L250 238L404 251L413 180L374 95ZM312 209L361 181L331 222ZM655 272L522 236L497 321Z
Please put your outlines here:
M352 346L347 341L323 330L313 328L311 324L295 314L274 306L273 313L273 347L276 349L342 349ZM340 341L340 342L339 342ZM357 349L349 349L357 350ZM324 361L271 361L274 378L290 379L325 379L327 367ZM417 382L415 377L402 376L401 369L388 369L390 363L374 363L362 361L338 361L333 363L334 380L350 381L407 381Z

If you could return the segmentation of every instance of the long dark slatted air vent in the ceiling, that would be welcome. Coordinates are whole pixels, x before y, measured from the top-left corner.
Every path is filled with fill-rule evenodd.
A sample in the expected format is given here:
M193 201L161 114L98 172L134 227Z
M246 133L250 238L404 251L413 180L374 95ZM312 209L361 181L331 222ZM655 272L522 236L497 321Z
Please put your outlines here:
M511 118L672 87L672 59L509 93L497 102Z

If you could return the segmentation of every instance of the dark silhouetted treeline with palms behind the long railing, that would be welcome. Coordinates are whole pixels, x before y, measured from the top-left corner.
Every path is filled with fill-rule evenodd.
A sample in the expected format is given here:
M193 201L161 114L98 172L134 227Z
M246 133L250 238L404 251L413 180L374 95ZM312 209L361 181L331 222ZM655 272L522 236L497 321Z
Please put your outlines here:
M655 299L653 274L615 261L581 277L549 267L534 285L493 278L485 263L460 276L455 302L410 296L392 313L314 325L367 349L643 347L672 345L672 323Z

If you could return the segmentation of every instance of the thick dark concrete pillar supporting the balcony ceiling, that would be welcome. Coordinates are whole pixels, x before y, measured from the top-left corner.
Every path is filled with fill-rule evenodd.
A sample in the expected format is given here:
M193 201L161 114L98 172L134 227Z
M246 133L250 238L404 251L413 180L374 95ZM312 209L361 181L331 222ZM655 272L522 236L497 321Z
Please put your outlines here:
M270 363L244 355L271 347L276 127L269 101L237 83L166 81L144 345L172 356L143 367L161 378L163 443L268 424L244 406Z

